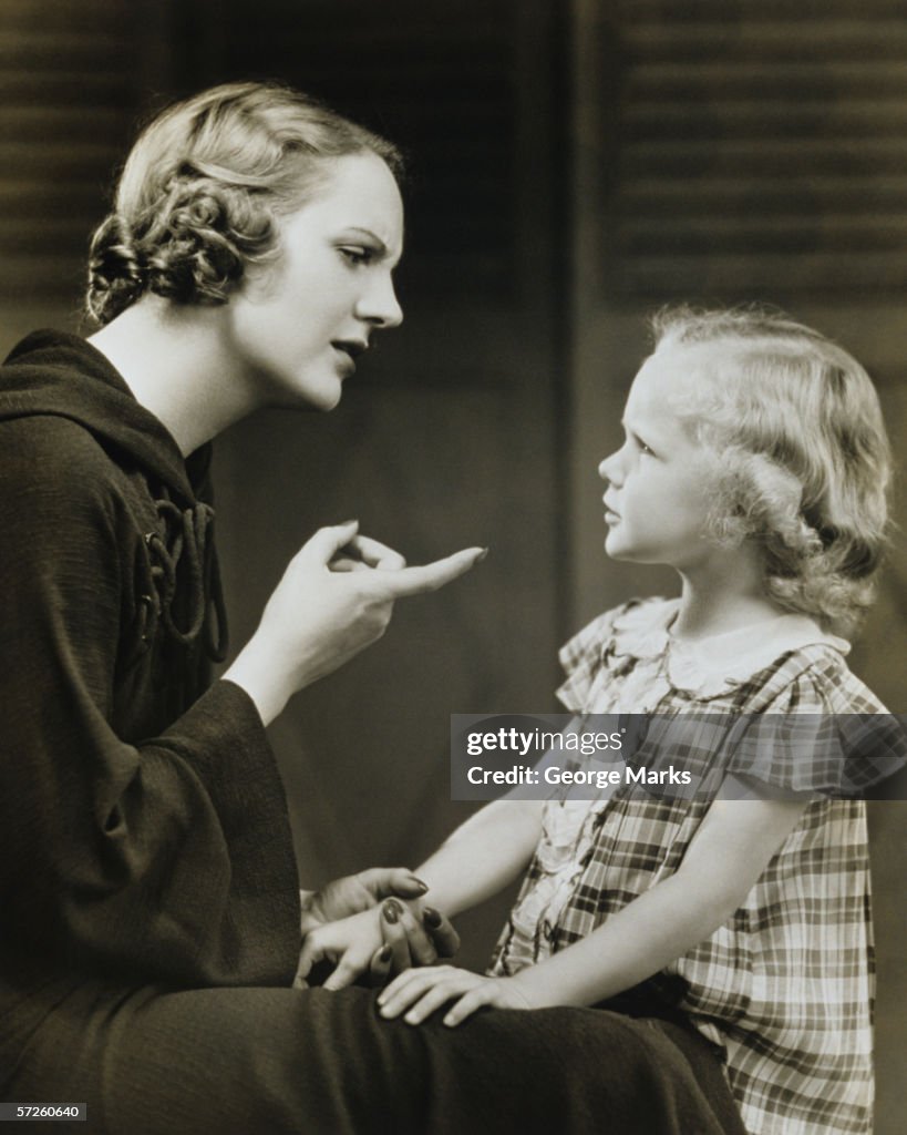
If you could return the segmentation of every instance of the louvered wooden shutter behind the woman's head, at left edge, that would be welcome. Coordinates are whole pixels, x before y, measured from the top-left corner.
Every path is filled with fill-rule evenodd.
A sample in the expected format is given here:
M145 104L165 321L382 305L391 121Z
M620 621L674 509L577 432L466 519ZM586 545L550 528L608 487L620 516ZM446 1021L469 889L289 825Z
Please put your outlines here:
M119 0L0 6L0 301L7 304L78 304L88 237L104 215L145 77L145 8Z

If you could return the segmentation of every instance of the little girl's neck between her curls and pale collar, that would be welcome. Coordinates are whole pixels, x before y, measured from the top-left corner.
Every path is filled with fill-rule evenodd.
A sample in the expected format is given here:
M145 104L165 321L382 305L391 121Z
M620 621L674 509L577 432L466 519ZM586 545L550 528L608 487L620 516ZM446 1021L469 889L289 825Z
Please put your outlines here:
M680 572L680 608L671 628L678 639L726 634L785 614L763 587L761 557L748 547L721 557L710 570Z

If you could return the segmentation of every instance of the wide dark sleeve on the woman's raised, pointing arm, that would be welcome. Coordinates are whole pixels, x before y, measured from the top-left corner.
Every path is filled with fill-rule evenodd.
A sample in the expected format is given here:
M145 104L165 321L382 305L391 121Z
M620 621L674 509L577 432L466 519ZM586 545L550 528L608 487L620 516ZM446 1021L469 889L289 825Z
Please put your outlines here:
M296 867L254 705L217 682L124 742L113 494L48 454L7 462L0 502L3 949L134 981L289 983Z

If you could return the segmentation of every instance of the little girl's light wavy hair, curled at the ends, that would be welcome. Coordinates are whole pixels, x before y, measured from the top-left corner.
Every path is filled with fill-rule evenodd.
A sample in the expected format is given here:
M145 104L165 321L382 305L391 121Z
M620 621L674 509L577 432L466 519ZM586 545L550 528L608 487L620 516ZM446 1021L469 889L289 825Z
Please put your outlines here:
M819 331L762 308L666 309L662 345L706 347L677 410L715 457L706 535L756 539L781 606L850 633L870 605L891 453L875 388Z

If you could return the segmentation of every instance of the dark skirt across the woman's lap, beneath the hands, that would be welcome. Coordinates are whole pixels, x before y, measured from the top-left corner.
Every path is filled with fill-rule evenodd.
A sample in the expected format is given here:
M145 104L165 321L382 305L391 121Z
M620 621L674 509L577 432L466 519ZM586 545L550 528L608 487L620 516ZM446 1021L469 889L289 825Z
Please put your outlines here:
M413 1028L357 989L83 987L14 1087L85 1100L82 1135L743 1132L711 1049L686 1029L595 1009Z

